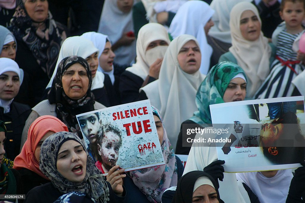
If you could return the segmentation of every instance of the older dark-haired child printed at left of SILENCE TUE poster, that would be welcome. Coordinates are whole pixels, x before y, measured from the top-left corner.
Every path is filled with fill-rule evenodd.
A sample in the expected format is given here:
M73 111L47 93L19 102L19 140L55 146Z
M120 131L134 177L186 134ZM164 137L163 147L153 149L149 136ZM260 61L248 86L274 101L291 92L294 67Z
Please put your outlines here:
M98 132L102 131L102 121L99 119L99 113L78 117L78 121L81 126L81 131L89 141L89 145L87 146L88 153L96 162L97 160L100 160L96 140Z

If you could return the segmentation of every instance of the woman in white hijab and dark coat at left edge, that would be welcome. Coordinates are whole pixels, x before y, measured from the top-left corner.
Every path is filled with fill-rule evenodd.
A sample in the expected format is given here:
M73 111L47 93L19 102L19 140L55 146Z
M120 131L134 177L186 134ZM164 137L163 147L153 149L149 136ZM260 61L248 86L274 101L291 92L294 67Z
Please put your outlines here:
M0 120L5 122L10 140L5 142L7 157L14 160L19 154L22 130L31 109L13 101L23 80L18 64L10 58L0 58L0 67Z

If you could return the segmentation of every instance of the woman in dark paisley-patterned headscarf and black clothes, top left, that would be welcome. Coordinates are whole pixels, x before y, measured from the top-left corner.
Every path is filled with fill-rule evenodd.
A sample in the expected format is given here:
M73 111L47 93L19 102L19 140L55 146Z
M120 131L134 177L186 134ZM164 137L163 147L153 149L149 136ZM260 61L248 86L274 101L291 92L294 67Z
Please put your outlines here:
M23 0L16 7L9 30L16 37L16 62L23 68L29 89L15 100L31 107L40 100L54 71L60 46L66 39L63 25L48 10L47 0Z

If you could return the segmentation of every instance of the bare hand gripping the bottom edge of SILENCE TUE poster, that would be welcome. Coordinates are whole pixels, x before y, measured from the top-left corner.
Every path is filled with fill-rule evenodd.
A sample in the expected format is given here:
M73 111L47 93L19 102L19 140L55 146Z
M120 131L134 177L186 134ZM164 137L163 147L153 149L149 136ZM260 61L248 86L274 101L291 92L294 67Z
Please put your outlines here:
M120 166L113 166L106 176L106 181L108 181L112 187L112 190L117 196L122 196L123 194L123 179L126 177L125 174L120 174L124 172L124 169L117 170Z

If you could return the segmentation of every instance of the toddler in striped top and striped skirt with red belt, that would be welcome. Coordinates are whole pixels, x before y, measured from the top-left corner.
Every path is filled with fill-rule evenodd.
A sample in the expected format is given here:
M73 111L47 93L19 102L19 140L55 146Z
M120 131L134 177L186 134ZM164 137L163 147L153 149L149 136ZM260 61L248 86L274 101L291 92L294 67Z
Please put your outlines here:
M304 53L293 51L292 45L303 33L302 21L305 17L304 0L282 0L281 23L272 35L272 43L276 45L276 59L271 65L271 72L255 95L257 99L300 95L292 84L305 66Z

